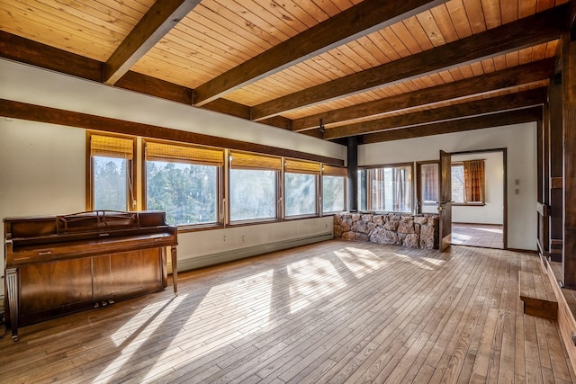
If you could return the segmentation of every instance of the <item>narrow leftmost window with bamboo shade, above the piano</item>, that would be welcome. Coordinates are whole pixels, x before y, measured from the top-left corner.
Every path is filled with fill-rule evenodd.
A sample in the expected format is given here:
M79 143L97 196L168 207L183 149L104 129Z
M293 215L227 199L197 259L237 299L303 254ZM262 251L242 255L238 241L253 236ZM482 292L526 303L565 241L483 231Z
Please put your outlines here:
M136 208L132 160L134 139L89 134L90 210Z

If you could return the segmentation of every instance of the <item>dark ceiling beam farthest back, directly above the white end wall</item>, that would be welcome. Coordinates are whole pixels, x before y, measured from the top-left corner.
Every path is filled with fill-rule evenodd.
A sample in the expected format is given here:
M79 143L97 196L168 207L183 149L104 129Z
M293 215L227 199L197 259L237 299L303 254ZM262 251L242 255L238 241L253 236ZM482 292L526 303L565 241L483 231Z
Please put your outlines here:
M436 122L405 129L391 129L371 133L360 137L358 144L372 144L383 141L401 140L404 138L422 138L444 133L463 132L465 130L502 127L510 124L539 121L543 116L543 107L531 107L516 111L492 113L484 116L474 116L468 119Z

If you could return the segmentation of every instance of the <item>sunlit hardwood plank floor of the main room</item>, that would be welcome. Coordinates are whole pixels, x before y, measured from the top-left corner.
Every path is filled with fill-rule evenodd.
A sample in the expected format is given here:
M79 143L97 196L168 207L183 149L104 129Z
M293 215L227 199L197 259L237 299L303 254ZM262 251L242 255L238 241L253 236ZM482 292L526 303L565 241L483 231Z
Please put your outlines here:
M553 321L524 315L536 255L332 240L0 340L0 382L557 382Z

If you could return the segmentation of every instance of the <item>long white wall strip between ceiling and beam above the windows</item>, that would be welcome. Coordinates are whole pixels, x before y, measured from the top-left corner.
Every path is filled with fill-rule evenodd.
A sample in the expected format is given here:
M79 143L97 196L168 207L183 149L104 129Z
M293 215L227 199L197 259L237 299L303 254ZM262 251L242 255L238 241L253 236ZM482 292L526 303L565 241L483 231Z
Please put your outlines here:
M346 159L346 147L0 59L0 98Z

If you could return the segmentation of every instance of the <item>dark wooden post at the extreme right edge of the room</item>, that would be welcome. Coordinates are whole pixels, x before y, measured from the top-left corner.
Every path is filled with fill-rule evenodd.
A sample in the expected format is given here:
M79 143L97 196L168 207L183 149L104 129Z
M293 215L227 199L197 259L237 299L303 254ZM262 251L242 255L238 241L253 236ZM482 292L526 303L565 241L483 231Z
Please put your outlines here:
M576 40L563 34L563 283L576 289Z

